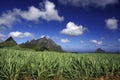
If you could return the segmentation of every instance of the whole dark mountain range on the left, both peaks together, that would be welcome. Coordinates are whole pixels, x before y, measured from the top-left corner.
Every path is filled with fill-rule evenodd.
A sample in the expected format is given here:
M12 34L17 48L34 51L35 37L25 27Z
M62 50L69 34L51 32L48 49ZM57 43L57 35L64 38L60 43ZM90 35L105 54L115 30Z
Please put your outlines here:
M25 43L17 45L16 41L10 36L4 42L0 43L0 48L16 46L19 46L21 48L33 49L35 51L63 52L61 46L57 45L53 40L47 39L46 37L37 40L27 41Z

